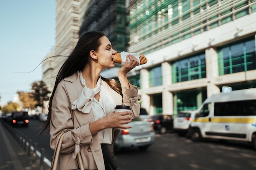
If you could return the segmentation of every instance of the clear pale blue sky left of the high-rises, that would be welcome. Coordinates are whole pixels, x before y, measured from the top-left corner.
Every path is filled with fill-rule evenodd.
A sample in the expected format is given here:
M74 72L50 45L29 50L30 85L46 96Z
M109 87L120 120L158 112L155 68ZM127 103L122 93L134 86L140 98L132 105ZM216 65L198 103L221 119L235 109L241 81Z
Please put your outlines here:
M0 0L1 105L42 80L40 63L55 45L55 18L56 0Z

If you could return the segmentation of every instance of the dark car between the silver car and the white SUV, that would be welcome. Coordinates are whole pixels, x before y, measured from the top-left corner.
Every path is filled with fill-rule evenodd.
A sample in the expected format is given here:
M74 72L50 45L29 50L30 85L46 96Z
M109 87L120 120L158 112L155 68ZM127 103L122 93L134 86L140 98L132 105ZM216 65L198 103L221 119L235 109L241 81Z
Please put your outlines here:
M156 114L148 118L148 122L154 122L155 131L161 134L173 130L173 115Z

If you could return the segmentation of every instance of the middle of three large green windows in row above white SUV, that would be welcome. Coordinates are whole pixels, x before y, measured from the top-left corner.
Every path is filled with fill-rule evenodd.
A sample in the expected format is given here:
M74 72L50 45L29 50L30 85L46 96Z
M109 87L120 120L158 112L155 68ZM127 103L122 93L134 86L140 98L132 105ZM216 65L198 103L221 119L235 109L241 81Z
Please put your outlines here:
M176 61L172 65L173 83L206 77L205 54Z

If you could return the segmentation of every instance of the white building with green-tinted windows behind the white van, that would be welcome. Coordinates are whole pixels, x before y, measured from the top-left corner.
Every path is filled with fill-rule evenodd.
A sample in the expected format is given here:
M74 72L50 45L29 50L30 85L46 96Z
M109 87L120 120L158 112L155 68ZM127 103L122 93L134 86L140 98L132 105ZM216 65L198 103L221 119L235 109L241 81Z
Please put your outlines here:
M128 51L148 58L132 81L150 114L256 87L256 0L137 0L129 11Z

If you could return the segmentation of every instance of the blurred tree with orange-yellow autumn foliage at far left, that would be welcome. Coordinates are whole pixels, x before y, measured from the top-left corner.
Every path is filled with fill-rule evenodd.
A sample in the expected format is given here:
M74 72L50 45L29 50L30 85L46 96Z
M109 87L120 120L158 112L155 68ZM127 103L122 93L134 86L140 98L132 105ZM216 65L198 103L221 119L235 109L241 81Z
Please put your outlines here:
M20 101L23 104L24 108L34 109L37 101L34 99L34 96L28 92L17 92L19 94Z

